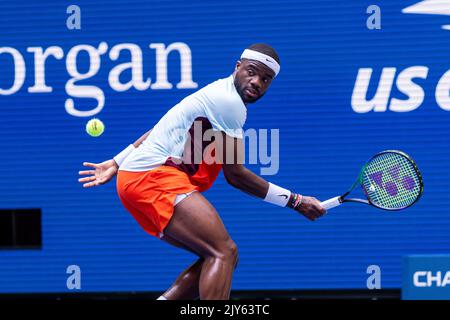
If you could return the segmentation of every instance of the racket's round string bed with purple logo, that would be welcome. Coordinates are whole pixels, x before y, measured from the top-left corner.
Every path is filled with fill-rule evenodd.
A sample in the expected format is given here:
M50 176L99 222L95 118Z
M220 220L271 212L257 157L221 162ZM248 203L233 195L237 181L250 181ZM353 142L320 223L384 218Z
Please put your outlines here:
M398 153L374 157L364 168L361 182L370 201L388 209L407 207L421 194L422 184L414 164Z

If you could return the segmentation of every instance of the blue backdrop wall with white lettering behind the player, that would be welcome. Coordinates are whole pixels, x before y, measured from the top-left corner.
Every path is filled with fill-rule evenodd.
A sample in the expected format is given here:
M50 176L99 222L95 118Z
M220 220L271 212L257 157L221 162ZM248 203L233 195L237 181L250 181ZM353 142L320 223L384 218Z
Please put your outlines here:
M0 292L68 291L69 265L81 268L82 291L162 291L193 261L138 226L122 207L115 180L92 189L77 181L83 161L110 159L197 90L176 87L181 64L174 51L168 61L172 89L116 91L109 72L129 62L130 54L113 61L110 49L137 45L144 79L153 83L150 44L176 42L191 50L198 88L228 76L252 43L277 49L281 73L266 96L249 106L246 122L246 128L280 130L280 169L267 180L327 199L349 187L362 164L385 149L412 155L424 177L423 198L407 211L348 204L312 223L233 189L221 175L206 196L239 247L233 289L365 288L369 265L380 266L382 288L399 288L403 256L445 253L450 246L450 31L444 27L450 19L403 11L418 2L377 1L381 29L375 30L366 25L372 1L0 2L0 208L42 208L43 236L42 250L0 250ZM434 1L422 2L427 7ZM66 26L71 4L81 8L81 30ZM444 9L448 14L448 5ZM108 51L98 72L76 85L98 87L104 107L92 116L72 115L67 99L84 111L97 101L66 90L73 68L68 53L101 42ZM29 92L36 72L29 48L51 46L63 53L45 63L52 92ZM90 60L86 52L78 55L80 73L92 68ZM422 71L409 69L419 66ZM365 69L373 71L367 92ZM394 82L390 90L384 79L376 112L370 100L383 70ZM121 81L130 74L124 72ZM361 92L367 105L357 97ZM394 98L406 112L391 110ZM368 112L361 112L365 105ZM84 131L93 116L106 124L99 138ZM259 173L259 166L249 168Z

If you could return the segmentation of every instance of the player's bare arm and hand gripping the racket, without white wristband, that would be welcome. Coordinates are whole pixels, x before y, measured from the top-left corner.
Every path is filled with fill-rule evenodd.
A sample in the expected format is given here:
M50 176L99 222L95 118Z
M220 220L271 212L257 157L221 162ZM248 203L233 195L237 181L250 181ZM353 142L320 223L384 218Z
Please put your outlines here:
M217 154L221 155L219 161L223 163L223 172L227 182L243 192L267 201L267 199L270 198L268 197L268 193L271 192L271 190L269 190L270 183L244 166L244 147L242 139L232 138L224 132L221 132L221 134L223 151L220 152L219 150ZM301 202L298 206L294 207L294 198L296 197L296 194L293 192L289 193L290 197L286 206L300 212L309 220L314 221L325 214L325 209L322 208L320 202L314 197L297 195L301 197Z

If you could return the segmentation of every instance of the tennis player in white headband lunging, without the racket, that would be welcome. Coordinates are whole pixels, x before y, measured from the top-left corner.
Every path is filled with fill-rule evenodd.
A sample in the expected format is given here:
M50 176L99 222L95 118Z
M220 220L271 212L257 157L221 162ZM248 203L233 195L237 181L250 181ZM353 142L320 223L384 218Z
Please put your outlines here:
M86 188L117 174L118 196L141 227L199 257L158 299L229 299L238 251L201 193L220 170L230 185L266 202L310 220L325 213L317 199L264 180L242 161L246 106L266 93L279 71L280 60L271 46L248 47L229 77L183 99L113 159L85 162L91 169L79 172L87 175L79 179Z

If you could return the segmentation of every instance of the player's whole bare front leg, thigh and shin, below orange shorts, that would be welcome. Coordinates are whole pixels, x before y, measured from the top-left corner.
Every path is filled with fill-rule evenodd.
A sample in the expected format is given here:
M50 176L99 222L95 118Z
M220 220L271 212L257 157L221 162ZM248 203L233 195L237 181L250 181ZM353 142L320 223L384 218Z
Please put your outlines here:
M229 299L237 248L205 197L195 192L179 203L164 234L204 259L199 280L200 299Z

